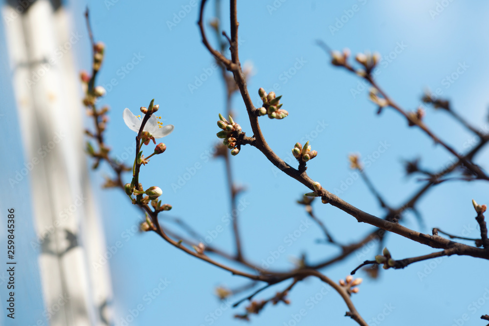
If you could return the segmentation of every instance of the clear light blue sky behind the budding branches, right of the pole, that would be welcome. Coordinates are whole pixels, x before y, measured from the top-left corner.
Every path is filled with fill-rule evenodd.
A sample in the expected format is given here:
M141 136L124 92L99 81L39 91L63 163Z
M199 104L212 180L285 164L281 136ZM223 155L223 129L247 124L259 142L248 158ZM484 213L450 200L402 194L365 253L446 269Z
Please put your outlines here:
M90 65L83 20L87 4L95 39L106 44L98 84L108 91L103 103L111 107L107 140L112 153L121 158L133 155L134 133L122 121L123 109L136 113L155 98L160 105L158 114L165 124L175 125L175 131L163 140L167 151L141 169L140 180L144 186L155 185L163 190L162 200L173 205L168 216L184 219L202 234L224 227L212 244L231 251L230 226L225 223L229 200L224 164L211 158L218 142L218 113L224 112L224 89L213 58L200 42L198 6L193 7L193 3L107 0L68 1L67 5L73 30L84 35L73 47L76 65L80 69ZM206 22L213 17L212 3ZM188 13L180 21L173 21L185 9ZM248 82L254 103L259 104L259 87L275 88L277 95L283 95L283 109L289 111L289 117L283 120L260 119L268 144L285 159L297 141L309 139L312 149L318 152L308 163L311 178L329 191L339 189L342 199L382 217L383 210L375 198L349 169L349 153L372 156L366 173L393 206L401 205L421 186L404 176L403 159L419 156L423 166L439 169L451 157L421 131L407 127L396 112L384 110L378 116L368 101L368 89L362 89L356 76L330 65L315 40L323 40L334 49L349 47L354 54L378 51L384 58L378 82L403 108L416 109L425 88L440 88L455 110L475 126L488 130L488 9L489 4L483 1L472 6L463 1L434 0L240 1L240 58L254 67L255 75ZM222 13L226 16L222 26L229 31L227 4L223 4ZM215 41L210 30L209 35ZM457 72L459 67L463 68ZM456 80L447 78L452 74ZM196 80L202 81L201 85ZM251 135L239 95L233 97L233 109L235 120ZM427 109L425 122L458 151L467 151L473 135L443 112ZM379 146L385 152L377 155ZM476 162L485 167L487 158L487 151L482 152ZM250 260L266 261L272 256L270 252L284 245L286 252L273 258L271 268L286 269L292 266L290 258L303 252L307 252L310 262L338 252L315 242L321 237L315 225L301 232L290 246L285 240L308 220L303 207L295 203L308 191L304 186L276 173L263 154L249 146L232 157L232 164L237 183L247 189L240 196L244 207L240 225L244 254ZM91 180L104 217L107 245L123 242L109 261L115 325L124 325L122 320L127 320L138 306L142 309L129 325L241 325L232 316L242 313L244 304L237 309L222 305L213 291L217 285L234 288L246 284L246 280L183 254L155 234L131 232L141 221L141 214L120 191L100 189L107 173L107 168L92 173ZM180 178L185 181L180 182L181 188L172 187ZM129 175L126 180L130 182ZM447 182L433 188L419 202L425 228L412 214L403 223L425 233L440 227L454 234L468 230L468 237L478 237L470 201L474 198L487 203L487 191L482 182ZM316 202L314 209L343 243L361 239L373 229L331 206ZM386 244L394 258L433 251L397 235L388 235ZM344 278L360 262L373 259L376 248L367 246L360 254L323 272L333 280ZM489 288L487 266L481 260L445 257L382 272L378 280L359 272L364 282L353 300L366 321L380 315L378 320L385 325L422 321L422 325L449 326L466 317L464 325L479 325L480 315L489 313L489 303L483 297ZM148 296L161 280L167 284L165 289L156 291L154 298ZM268 298L285 286L275 286L256 299ZM301 309L307 313L297 325L355 325L345 319L346 306L333 291L318 295L321 300L311 304L310 297L321 293L322 287L315 279L300 283L289 295L289 306L267 306L260 315L252 316L253 325L295 325L294 315ZM241 298L233 298L230 303ZM478 304L472 303L478 300Z

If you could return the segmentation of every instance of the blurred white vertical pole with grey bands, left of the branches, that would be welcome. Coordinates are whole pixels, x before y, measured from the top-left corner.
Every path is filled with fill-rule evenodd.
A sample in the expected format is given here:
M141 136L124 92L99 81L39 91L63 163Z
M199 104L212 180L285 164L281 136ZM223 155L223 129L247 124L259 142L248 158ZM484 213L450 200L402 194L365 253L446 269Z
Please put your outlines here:
M49 325L111 325L109 266L83 152L83 110L70 32L59 1L7 1L3 23L22 143L30 172L44 304ZM79 15L83 17L82 14ZM30 164L30 165L29 165ZM10 186L15 187L15 182Z

